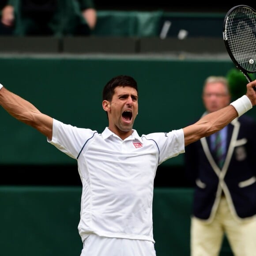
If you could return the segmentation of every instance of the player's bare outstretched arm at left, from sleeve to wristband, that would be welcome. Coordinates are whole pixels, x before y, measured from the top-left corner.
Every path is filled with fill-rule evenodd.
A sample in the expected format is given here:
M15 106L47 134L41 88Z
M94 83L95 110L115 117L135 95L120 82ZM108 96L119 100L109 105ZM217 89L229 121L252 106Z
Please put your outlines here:
M14 118L28 124L48 139L53 136L53 118L41 113L34 105L0 85L0 105Z

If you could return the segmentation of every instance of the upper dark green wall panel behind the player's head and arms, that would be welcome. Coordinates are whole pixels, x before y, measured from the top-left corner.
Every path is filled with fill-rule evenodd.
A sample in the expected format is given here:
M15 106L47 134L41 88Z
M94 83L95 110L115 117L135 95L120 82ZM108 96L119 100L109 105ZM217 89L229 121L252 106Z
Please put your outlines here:
M201 89L208 75L226 75L231 60L145 56L1 56L0 83L65 123L102 132L102 88L115 75L139 85L139 134L179 129L203 112ZM254 114L252 109L249 114ZM0 109L0 164L65 164L75 160L33 128ZM163 165L182 165L182 156Z

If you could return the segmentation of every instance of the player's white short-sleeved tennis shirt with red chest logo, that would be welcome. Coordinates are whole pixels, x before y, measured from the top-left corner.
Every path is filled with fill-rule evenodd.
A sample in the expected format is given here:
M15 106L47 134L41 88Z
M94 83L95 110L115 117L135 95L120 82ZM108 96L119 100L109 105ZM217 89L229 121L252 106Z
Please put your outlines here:
M105 128L102 134L53 120L49 143L77 159L83 184L80 222L82 241L104 237L154 242L152 201L158 165L184 153L183 129L122 140Z

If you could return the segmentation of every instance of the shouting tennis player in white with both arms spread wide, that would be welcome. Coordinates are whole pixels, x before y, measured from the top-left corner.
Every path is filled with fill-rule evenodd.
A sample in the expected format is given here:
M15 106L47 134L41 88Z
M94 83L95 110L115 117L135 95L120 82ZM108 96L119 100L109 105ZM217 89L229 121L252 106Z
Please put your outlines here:
M103 89L102 107L109 126L102 133L45 115L2 85L0 105L77 159L83 184L78 226L81 256L156 256L152 201L157 167L256 105L255 86L256 81L248 83L246 95L195 124L142 136L132 128L138 91L136 81L127 75L114 77Z

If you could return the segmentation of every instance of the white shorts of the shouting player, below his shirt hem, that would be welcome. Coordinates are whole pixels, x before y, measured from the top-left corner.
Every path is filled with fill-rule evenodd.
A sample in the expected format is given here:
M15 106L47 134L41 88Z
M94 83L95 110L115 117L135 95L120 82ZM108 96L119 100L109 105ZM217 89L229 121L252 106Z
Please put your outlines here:
M147 240L100 237L90 234L80 256L156 256L154 243Z

